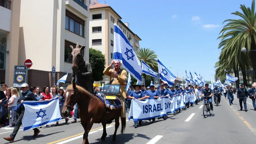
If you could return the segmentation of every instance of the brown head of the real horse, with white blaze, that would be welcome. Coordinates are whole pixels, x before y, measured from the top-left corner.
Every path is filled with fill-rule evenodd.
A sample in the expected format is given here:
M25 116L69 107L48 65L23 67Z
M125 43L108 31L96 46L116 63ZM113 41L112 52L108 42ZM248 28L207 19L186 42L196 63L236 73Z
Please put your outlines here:
M68 117L70 112L73 111L73 106L78 102L78 92L76 89L76 84L70 84L67 86L66 91L64 92L63 96L65 97L65 102L62 109L62 114L64 117Z

